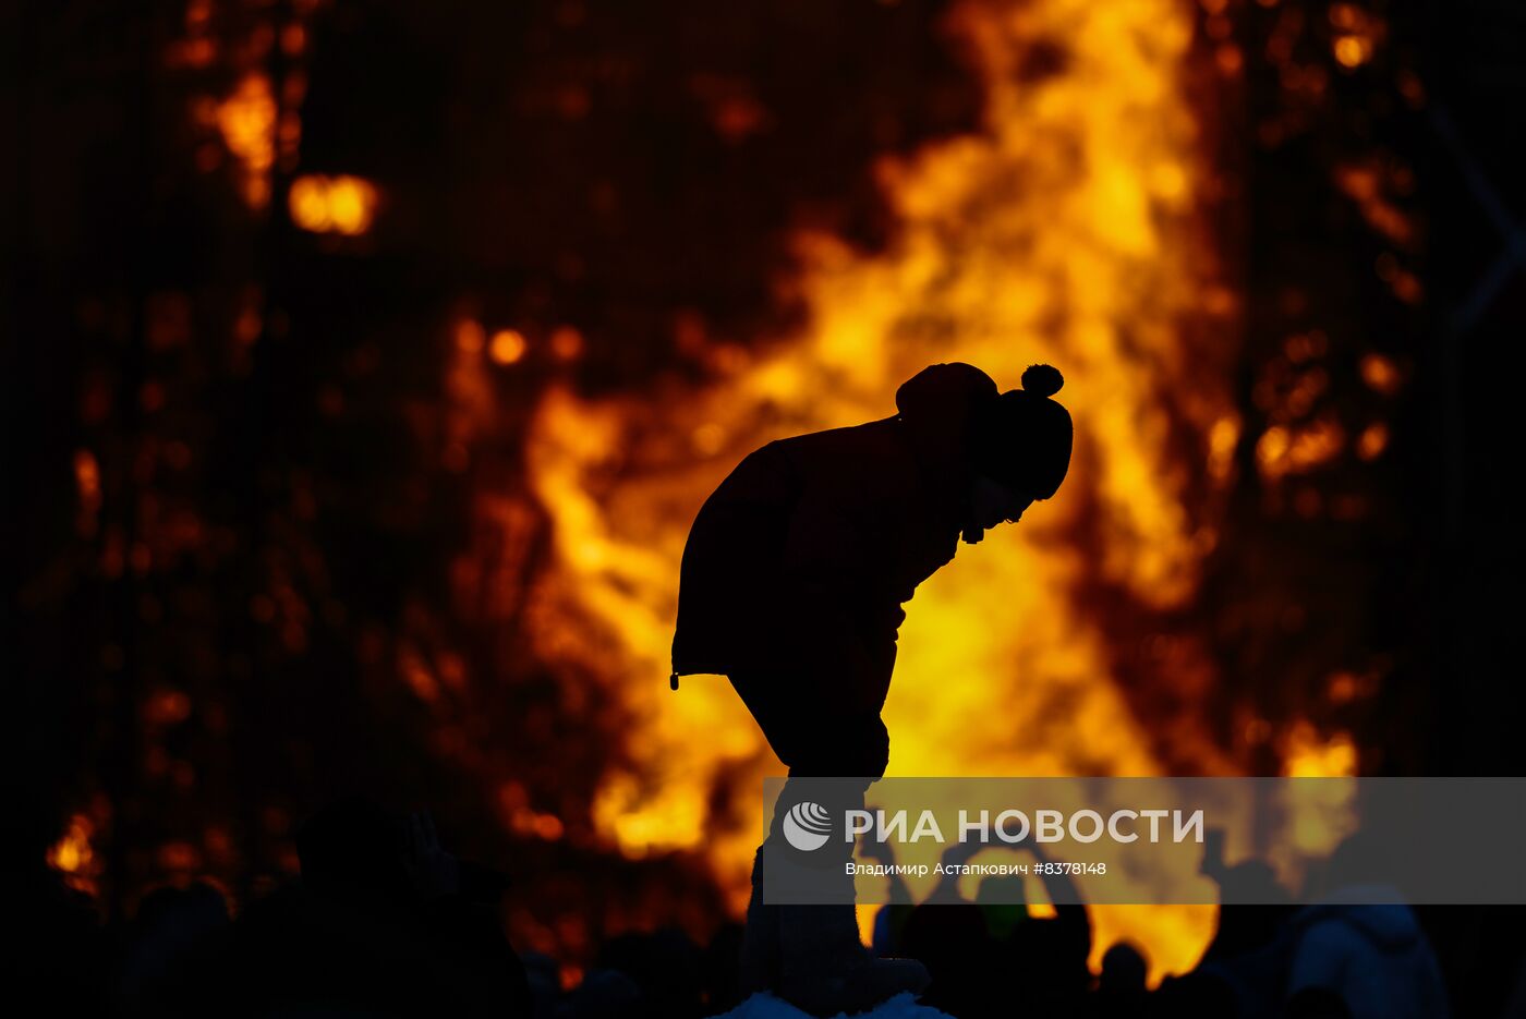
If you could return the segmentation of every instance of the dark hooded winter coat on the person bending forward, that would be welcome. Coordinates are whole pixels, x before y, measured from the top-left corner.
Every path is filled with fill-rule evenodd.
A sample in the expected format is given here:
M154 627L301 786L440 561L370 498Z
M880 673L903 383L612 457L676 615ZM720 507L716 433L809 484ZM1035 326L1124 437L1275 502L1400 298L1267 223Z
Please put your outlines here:
M679 572L673 671L772 673L844 709L879 711L917 584L969 517L969 429L995 383L935 365L900 413L778 439L705 500Z

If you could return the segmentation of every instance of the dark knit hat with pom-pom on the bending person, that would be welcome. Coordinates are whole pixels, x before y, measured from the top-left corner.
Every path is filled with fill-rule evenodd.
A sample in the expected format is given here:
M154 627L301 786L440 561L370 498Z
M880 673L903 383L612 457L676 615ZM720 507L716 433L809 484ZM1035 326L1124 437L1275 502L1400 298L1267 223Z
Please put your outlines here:
M1050 400L1065 384L1048 365L1022 372L1022 389L987 404L975 447L977 468L1018 494L1048 499L1070 468L1070 412Z

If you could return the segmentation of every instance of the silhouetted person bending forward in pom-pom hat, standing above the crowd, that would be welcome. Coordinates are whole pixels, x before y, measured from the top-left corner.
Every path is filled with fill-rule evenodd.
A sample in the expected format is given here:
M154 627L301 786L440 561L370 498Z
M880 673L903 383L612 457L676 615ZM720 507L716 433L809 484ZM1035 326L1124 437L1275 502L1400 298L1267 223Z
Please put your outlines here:
M896 392L899 413L769 442L700 508L684 549L673 673L731 679L790 778L855 776L836 824L885 773L879 718L896 635L917 584L998 523L1059 488L1071 421L1050 400L1061 374L1035 365L1000 392L977 368L934 365ZM758 850L743 940L743 990L774 988L807 1011L858 1010L920 990L925 970L871 960L858 938L841 830L800 853L781 822L801 801L787 783ZM827 902L763 908L774 868L835 882Z

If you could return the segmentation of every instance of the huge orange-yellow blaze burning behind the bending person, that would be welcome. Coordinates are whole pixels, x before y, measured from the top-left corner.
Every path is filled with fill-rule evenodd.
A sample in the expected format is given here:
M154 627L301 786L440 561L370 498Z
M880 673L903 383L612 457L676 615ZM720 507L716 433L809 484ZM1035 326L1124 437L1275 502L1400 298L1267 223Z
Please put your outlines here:
M546 394L526 462L555 564L531 625L548 661L595 677L633 718L627 763L594 805L621 853L705 853L743 902L760 780L778 764L723 679L668 693L687 528L748 450L885 416L896 386L934 362L975 363L1004 387L1054 363L1077 452L1053 503L961 548L908 607L885 709L891 773L1163 769L1088 592L1190 604L1215 535L1189 485L1222 481L1215 458L1239 430L1230 331L1213 329L1235 302L1215 281L1186 95L1193 18L1180 0L958 6L949 29L983 76L984 128L879 166L900 224L884 253L798 238L803 270L786 284L810 311L798 336L745 351L685 322L681 345L707 358L708 384ZM1218 348L1189 339L1207 333ZM1193 455L1202 467L1184 465ZM1186 696L1212 680L1206 656L1175 656ZM1175 761L1231 767L1190 728L1172 740ZM1157 973L1190 967L1213 923L1207 908L1093 915L1099 952L1132 937Z

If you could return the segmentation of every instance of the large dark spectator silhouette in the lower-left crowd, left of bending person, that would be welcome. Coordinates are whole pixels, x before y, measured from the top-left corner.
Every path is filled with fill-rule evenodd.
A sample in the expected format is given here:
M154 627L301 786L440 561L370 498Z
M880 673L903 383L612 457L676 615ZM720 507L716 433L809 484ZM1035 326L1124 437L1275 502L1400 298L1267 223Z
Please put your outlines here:
M499 921L504 879L444 851L427 815L346 798L296 844L301 883L235 924L229 985L243 1014L531 1014Z

